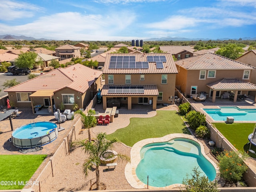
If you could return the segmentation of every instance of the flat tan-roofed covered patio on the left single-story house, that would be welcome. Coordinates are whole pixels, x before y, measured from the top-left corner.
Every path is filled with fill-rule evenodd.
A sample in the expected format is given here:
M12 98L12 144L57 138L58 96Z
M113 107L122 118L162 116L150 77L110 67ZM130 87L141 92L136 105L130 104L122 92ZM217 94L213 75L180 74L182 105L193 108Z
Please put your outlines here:
M40 110L44 106L46 106L45 99L49 102L47 106L49 106L51 109L54 109L53 106L53 96L54 96L55 90L38 90L31 94L29 97L31 99L31 106L32 106L32 112L35 114L36 108ZM54 110L51 110L52 114L54 113Z

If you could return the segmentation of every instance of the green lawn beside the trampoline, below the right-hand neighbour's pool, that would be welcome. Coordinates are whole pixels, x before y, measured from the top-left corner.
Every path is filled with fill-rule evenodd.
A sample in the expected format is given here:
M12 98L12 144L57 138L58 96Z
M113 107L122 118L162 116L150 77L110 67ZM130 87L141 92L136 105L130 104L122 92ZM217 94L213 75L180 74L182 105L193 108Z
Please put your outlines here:
M238 150L248 150L248 136L253 132L255 123L213 123L226 139ZM251 146L256 151L256 147ZM250 154L251 155L251 154Z

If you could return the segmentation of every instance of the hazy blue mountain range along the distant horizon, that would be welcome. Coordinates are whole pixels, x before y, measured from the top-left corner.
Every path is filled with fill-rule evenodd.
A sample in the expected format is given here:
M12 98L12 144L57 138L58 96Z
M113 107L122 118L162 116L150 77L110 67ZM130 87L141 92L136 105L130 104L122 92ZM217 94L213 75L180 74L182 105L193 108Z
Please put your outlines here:
M232 38L221 38L218 40L230 40ZM40 41L49 41L53 39L45 39L45 38L40 38L36 39L34 37L27 37L27 36L15 36L15 35L0 35L0 40L40 40ZM184 37L162 37L162 38L150 38L150 39L144 39L144 41L208 41L208 40L217 40L217 39L210 39L210 38L184 38ZM233 40L238 40L238 39L233 39ZM242 40L256 40L256 37L250 38L250 37L244 37ZM119 40L119 41L127 41L127 40Z

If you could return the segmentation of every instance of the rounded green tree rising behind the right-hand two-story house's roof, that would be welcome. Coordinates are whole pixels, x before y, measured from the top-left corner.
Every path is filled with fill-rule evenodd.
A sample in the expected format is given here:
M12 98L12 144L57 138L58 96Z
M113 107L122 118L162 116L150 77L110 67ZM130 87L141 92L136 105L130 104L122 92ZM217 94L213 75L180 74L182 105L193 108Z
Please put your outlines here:
M242 56L243 52L244 52L244 50L240 46L230 43L227 46L220 48L218 51L216 51L216 54L234 60L234 59Z

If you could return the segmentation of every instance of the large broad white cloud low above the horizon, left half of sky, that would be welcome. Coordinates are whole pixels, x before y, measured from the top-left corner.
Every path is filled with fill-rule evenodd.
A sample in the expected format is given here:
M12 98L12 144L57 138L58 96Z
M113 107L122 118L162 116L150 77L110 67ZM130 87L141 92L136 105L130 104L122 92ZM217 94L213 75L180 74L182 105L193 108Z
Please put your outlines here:
M111 12L106 15L86 15L78 12L64 12L44 16L38 20L20 25L7 26L0 24L0 34L26 34L35 38L54 38L58 40L99 40L115 36L126 30L136 14L128 11Z

